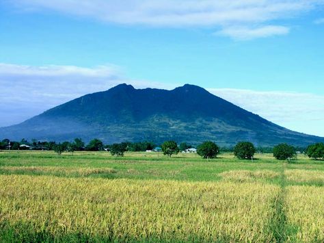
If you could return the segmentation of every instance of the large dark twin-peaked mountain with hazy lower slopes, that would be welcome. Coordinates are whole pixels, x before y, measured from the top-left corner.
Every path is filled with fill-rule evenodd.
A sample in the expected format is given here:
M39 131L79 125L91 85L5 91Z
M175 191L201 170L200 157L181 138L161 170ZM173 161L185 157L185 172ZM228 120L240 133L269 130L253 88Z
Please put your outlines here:
M105 143L165 140L221 146L247 140L256 146L288 142L306 146L324 138L285 129L203 88L186 84L174 90L120 84L54 107L25 122L3 127L0 138L88 141Z

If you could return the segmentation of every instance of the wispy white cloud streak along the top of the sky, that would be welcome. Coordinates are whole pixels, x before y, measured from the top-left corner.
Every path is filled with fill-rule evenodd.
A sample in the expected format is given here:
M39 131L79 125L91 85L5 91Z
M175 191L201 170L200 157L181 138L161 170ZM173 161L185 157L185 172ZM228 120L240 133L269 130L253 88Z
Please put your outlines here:
M286 24L324 0L10 0L27 10L54 10L107 23L152 27L213 27L219 34L251 39L287 34ZM239 26L239 27L237 27ZM257 26L257 27L255 27Z

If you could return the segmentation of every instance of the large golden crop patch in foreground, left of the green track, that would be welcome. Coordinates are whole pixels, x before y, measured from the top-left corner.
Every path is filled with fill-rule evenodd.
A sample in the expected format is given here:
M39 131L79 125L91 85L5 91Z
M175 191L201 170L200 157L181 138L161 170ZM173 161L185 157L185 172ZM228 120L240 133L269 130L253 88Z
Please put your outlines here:
M0 222L122 241L271 242L280 191L265 183L29 175L1 175L0 184Z

